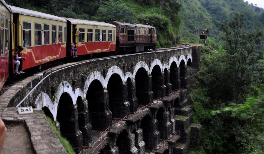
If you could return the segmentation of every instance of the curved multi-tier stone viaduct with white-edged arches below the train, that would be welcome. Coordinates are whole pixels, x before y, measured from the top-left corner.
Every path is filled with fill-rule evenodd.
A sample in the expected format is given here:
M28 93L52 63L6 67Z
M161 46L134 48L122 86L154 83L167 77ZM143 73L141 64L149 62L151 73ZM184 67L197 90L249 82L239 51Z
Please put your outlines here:
M192 46L68 63L53 67L22 106L42 109L57 121L76 152L103 144L93 152L186 153L199 143L201 126L192 124L187 101L199 67L200 47ZM25 81L1 104L16 106L48 73ZM105 130L96 143L96 131Z

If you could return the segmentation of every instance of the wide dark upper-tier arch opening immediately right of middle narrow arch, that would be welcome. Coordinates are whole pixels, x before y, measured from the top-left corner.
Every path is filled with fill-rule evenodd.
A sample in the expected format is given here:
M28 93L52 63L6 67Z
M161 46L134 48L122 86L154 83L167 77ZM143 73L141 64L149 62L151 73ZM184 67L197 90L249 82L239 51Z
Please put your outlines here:
M135 75L136 98L138 98L138 105L149 103L149 89L151 89L151 84L149 82L151 81L149 81L148 72L143 67L139 68Z

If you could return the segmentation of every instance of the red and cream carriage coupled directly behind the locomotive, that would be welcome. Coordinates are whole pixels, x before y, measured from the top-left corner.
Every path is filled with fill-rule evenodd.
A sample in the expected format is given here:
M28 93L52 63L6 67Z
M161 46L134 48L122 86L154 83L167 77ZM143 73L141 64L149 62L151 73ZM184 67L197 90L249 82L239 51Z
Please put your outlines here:
M70 39L67 40L67 49L75 40L77 55L115 51L115 25L81 19L64 19L67 20L67 33L71 33ZM80 32L78 36L74 35L75 27L77 27L76 33Z

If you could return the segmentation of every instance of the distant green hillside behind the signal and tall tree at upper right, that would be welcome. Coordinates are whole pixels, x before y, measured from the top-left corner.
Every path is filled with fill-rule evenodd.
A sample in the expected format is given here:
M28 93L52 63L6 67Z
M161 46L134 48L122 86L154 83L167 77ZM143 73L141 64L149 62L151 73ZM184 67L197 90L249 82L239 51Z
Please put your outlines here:
M260 14L256 13L242 0L180 0L182 4L183 23L181 25L182 37L197 38L198 23L200 31L209 29L209 37L220 38L219 23L227 18L232 18L236 12L245 15L246 29L256 27L264 28ZM201 33L200 33L201 34Z

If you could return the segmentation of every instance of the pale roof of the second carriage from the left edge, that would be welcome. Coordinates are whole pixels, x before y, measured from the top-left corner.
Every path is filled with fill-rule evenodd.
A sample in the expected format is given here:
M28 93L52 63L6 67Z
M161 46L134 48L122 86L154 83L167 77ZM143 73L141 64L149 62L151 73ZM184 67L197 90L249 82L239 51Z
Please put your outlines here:
M29 10L29 9L15 7L15 6L11 6L11 5L9 5L9 7L10 7L12 13L19 13L19 14L24 14L24 15L27 15L27 16L33 16L33 17L39 17L39 18L45 18L45 19L51 19L51 20L67 22L65 19L63 19L61 17L53 16L53 15L50 15L50 14L41 13L41 12L37 12L37 11L32 11L32 10Z

